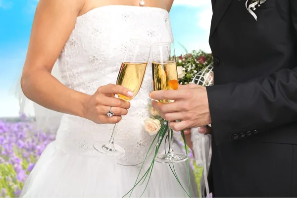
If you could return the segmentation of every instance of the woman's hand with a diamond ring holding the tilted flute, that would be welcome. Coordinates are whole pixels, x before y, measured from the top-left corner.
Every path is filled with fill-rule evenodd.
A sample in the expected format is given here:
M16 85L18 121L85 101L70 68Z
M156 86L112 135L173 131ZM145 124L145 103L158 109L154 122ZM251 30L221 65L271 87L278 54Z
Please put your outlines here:
M120 85L108 84L101 86L93 96L86 100L84 117L98 124L115 124L119 122L122 115L127 115L130 102L114 98L115 94L126 97L133 96L131 90ZM114 116L107 117L106 113L111 106Z

